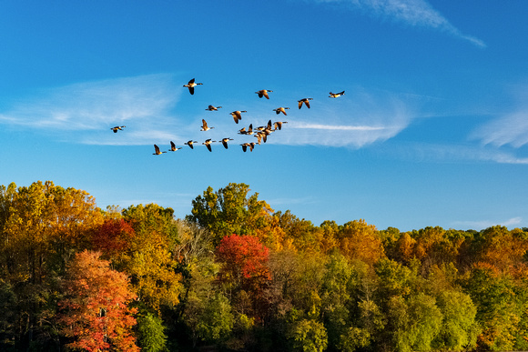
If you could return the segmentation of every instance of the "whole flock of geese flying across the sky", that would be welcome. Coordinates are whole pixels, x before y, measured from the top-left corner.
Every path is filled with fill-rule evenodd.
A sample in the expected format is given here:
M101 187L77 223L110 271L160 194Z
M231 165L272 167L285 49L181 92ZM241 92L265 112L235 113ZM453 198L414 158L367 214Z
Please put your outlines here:
M188 81L187 85L183 85L183 86L188 88L188 92L191 95L194 95L195 87L197 85L203 85L203 83L196 83L195 79L193 78L190 81ZM255 94L257 94L259 96L259 98L265 97L266 99L269 99L269 93L273 93L273 91L270 90L270 89L261 89L258 92L255 92ZM332 92L330 92L330 96L329 97L336 98L336 97L339 97L339 96L344 96L344 94L345 94L345 91L342 91L340 93L332 93ZM302 98L302 99L298 100L299 108L301 108L304 105L304 106L306 106L306 107L308 107L310 109L310 100L313 100L313 98ZM222 108L222 106L208 106L208 108L206 110L208 110L208 111L218 111L218 109L220 109L220 108ZM277 115L282 113L284 116L288 115L286 113L286 110L289 110L289 107L280 106L280 107L278 107L276 109L273 109L273 111L275 111L275 113ZM239 124L239 121L242 119L242 113L247 113L247 111L246 110L236 110L236 111L233 111L233 112L231 112L229 114L231 116L233 116L233 120L235 121L235 123ZM274 123L271 123L271 120L269 120L267 126L259 126L259 127L253 128L253 124L250 124L249 127L248 127L248 130L246 130L246 127L243 127L241 129L239 129L239 135L255 136L257 138L257 142L247 142L247 143L241 144L240 146L242 146L242 150L244 152L246 152L249 149L249 151L252 152L253 148L255 148L256 145L260 145L262 142L266 143L266 141L268 139L268 136L272 132L277 131L277 130L281 130L282 129L282 125L283 124L287 124L287 123L288 123L288 121L276 121ZM122 131L123 128L125 128L125 127L127 127L127 126L114 126L114 127L111 127L110 129L114 133L117 133L117 131ZM208 131L208 130L213 129L213 128L215 128L215 127L208 126L208 123L206 122L206 120L202 119L202 126L201 126L200 131ZM222 138L219 141L213 141L212 139L206 139L206 141L203 142L202 145L206 146L208 148L209 152L212 152L212 147L211 147L212 143L219 142L219 143L222 144L222 146L224 146L224 148L228 149L228 142L232 141L232 140L234 140L234 139L229 138L229 137ZM189 146L191 149L194 149L194 145L197 144L197 143L198 143L198 141L193 141L191 139L188 142L185 142L184 145ZM182 148L183 148L182 146L177 147L174 144L173 141L170 141L170 149L168 151L176 152L177 150L182 149ZM167 151L161 151L159 149L159 146L154 145L154 153L153 153L153 155L159 156L159 155L162 155L164 153L167 153Z

